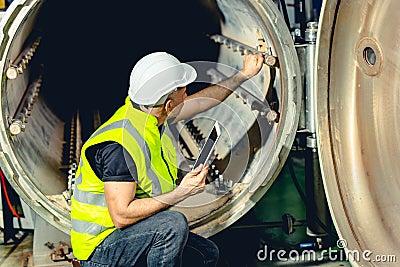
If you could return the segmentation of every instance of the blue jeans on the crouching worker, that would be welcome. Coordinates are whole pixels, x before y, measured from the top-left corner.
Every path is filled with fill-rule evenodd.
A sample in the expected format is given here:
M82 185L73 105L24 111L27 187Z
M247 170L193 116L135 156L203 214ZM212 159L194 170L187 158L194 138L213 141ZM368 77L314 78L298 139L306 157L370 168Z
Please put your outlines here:
M161 211L110 234L82 267L216 266L218 247L189 232L185 216Z

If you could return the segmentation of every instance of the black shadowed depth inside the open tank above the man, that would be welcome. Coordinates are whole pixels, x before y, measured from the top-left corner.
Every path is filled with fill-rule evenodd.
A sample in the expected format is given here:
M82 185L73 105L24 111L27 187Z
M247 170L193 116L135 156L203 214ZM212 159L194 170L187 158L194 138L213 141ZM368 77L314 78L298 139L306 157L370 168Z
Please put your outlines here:
M216 61L219 47L207 34L220 32L213 1L84 1L65 8L46 1L34 32L42 36L36 62L41 97L63 121L79 111L85 139L94 112L105 121L127 96L135 62L166 51L182 62ZM63 11L62 11L63 9ZM188 93L203 85L188 87Z

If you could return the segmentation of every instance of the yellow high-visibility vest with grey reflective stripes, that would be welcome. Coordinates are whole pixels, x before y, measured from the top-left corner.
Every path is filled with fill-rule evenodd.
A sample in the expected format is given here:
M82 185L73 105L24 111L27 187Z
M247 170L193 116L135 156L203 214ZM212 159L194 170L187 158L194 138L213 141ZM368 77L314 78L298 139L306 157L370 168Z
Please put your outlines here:
M108 211L104 183L96 176L86 150L96 144L121 144L135 162L138 187L135 198L154 197L172 191L177 179L176 150L172 140L160 138L156 117L125 105L97 129L82 147L71 198L71 242L74 256L86 260L116 228Z

